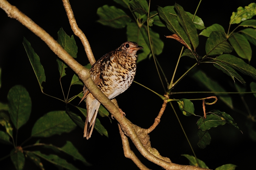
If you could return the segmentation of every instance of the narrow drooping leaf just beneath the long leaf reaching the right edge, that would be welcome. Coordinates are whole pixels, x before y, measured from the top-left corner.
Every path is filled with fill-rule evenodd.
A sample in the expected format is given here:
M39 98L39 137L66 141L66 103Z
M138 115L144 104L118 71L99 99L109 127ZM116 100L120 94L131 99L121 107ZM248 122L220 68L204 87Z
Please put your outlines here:
M234 77L236 77L237 80L239 80L241 83L245 83L245 80L234 70L233 68L229 67L228 65L215 61L213 62L214 67L218 68L219 70L223 71L223 73L227 74L230 76L233 81L235 82Z

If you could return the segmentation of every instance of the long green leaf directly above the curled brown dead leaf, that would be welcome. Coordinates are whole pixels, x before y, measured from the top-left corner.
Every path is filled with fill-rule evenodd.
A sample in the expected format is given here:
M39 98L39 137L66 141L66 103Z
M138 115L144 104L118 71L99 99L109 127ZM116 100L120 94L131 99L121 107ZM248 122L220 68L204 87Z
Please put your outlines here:
M186 45L191 49L190 41L188 36L186 35L183 28L180 26L177 20L177 16L169 14L169 9L173 9L171 6L168 7L159 7L158 6L158 12L159 16L164 20L164 22L167 25L167 28L173 32L174 34L178 35L180 38L183 39L183 41L186 43Z

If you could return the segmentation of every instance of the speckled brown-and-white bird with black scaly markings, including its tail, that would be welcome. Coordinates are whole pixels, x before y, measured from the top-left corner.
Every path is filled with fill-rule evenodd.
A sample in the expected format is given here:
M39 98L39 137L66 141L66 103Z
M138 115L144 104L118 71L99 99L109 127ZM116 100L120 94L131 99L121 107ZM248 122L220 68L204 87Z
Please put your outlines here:
M137 51L143 49L136 42L126 41L116 50L102 56L91 69L91 78L97 87L108 97L114 99L130 87L136 73ZM84 127L84 138L92 135L100 102L84 85L83 98L86 99L87 116ZM122 115L124 114L121 110Z

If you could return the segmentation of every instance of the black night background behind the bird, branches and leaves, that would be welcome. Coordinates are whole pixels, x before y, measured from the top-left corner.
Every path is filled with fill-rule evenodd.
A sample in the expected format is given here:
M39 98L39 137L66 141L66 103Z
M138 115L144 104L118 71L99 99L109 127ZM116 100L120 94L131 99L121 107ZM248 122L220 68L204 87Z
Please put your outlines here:
M35 23L41 26L46 32L48 32L53 38L57 39L57 32L62 27L68 35L73 35L72 30L62 5L59 1L34 1L34 0L19 0L9 1L12 5L15 5L20 11L30 17ZM183 1L177 0L176 3L180 4L185 11L194 13L199 1ZM197 16L201 17L206 27L211 26L214 23L222 25L227 32L229 26L230 16L233 11L239 6L247 6L252 1L249 0L236 0L236 1L202 1L198 9ZM113 29L108 26L102 26L97 23L98 16L96 14L97 8L105 4L115 5L117 8L122 8L120 5L113 1L71 1L71 7L73 9L76 22L80 29L83 30L88 38L94 53L95 59L99 59L105 53L116 49L123 42L126 41L126 29ZM168 5L174 5L175 1L152 1L151 11L157 11L157 5L164 7ZM123 9L123 8L122 8ZM128 10L125 10L130 15ZM41 93L36 76L33 72L33 68L29 62L26 51L23 47L23 37L26 37L30 41L35 52L39 55L41 63L45 69L46 83L43 83L44 92L63 99L59 83L59 72L56 62L56 55L48 48L48 46L30 30L20 24L17 20L7 17L3 10L0 10L0 67L2 68L2 87L0 89L0 102L7 103L7 94L11 87L17 84L23 85L29 92L32 99L32 112L29 121L19 129L18 144L21 144L26 140L30 134L31 129L37 119L42 115L53 110L65 110L65 104L59 100L51 98ZM231 29L234 29L232 26ZM163 53L158 56L158 60L161 63L164 72L170 81L176 61L180 54L182 45L175 40L167 39L164 35L172 34L167 27L160 28L153 26L152 29L159 33L160 38L164 41ZM77 61L82 65L88 64L83 46L75 36L76 44L78 46ZM199 55L204 55L205 37L199 37L200 44L197 48ZM253 57L251 65L255 67L255 47L253 48ZM235 53L233 53L236 55ZM237 55L236 55L237 56ZM191 58L183 57L180 61L178 71L176 73L176 79L180 77L186 68L195 63L195 60ZM223 87L227 91L234 91L229 87L232 84L231 78L221 71L214 68L212 65L200 65L201 69L209 73L213 79L218 79L222 83ZM67 94L68 84L73 76L73 71L66 69L67 76L63 77L63 82L67 82L64 85L64 92ZM244 76L245 81L249 84L252 80L248 76ZM135 81L142 83L150 89L156 91L159 94L164 94L164 90L159 81L159 77L156 72L155 64L153 60L143 60L137 65ZM236 83L239 83L238 81ZM65 83L63 83L65 84ZM247 89L249 90L249 89ZM82 86L74 86L71 89L71 95L77 94L82 91ZM199 86L197 82L185 77L178 86L175 87L173 92L182 91L208 91L207 89ZM209 94L210 95L210 94ZM201 98L208 97L208 94L198 95L176 95L171 98ZM242 105L240 97L238 95L232 95L233 105L240 110L246 112ZM255 99L253 95L246 95L248 105L251 111L255 110ZM146 90L145 88L133 83L130 88L117 96L119 107L126 113L126 117L134 124L148 128L154 122L161 105L162 100L154 93ZM80 99L73 100L73 104L77 105ZM214 106L207 106L207 111L213 108L225 111L230 114L238 123L239 128L244 132L243 134L235 128L224 125L217 128L212 128L209 133L212 141L205 149L199 149L197 146L198 136L196 121L197 117L185 117L180 114L178 106L173 102L175 109L180 117L180 120L184 126L184 129L192 143L197 157L203 160L209 168L215 169L218 166L224 164L238 165L236 169L248 169L254 167L255 163L255 142L253 142L247 133L247 119L245 116L230 110L221 101L218 101ZM196 114L203 114L201 108L201 101L194 102ZM80 105L85 108L85 104ZM241 106L241 107L240 107ZM70 109L79 112L70 106ZM101 136L96 130L94 130L92 137L89 140L83 138L83 129L77 127L70 133L64 133L62 135L54 135L50 138L42 138L42 143L51 143L58 147L62 147L67 140L71 141L79 152L92 163L93 166L85 167L79 161L73 161L69 156L61 155L61 157L72 162L76 167L80 169L137 169L136 165L130 160L125 158L123 154L122 143L118 132L117 121L104 117L98 117L103 126L108 130L109 138ZM1 127L2 128L2 127ZM3 130L3 129L2 129ZM161 118L161 123L157 128L151 132L151 146L156 148L162 156L169 157L172 162L177 164L188 165L188 160L181 156L181 154L193 155L189 147L188 142L178 124L176 116L174 115L170 105L167 105L167 109ZM33 138L25 145L33 144L38 138ZM136 156L151 169L162 169L158 165L155 165L145 159L134 147L130 141L130 147L135 152ZM10 153L11 146L0 144L0 158ZM39 149L39 148L35 148ZM43 153L50 153L50 150L44 150ZM41 159L45 169L57 169L54 165ZM0 169L15 169L10 158L4 159L0 162ZM24 169L39 169L30 160L26 159Z

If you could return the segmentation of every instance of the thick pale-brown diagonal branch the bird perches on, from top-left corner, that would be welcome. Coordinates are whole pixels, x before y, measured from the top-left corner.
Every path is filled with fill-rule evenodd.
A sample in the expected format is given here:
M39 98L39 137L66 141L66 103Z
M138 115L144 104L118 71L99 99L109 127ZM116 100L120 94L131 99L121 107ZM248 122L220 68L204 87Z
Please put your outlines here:
M101 102L101 104L103 104L120 123L124 133L131 138L136 148L145 158L165 169L205 169L191 165L174 164L169 158L162 157L156 149L151 147L149 135L146 133L147 130L134 125L128 119L126 119L126 117L122 117L119 109L92 81L90 71L88 69L76 62L76 60L73 59L73 57L71 57L58 44L57 41L55 41L47 32L45 32L45 30L34 23L29 17L20 12L15 6L12 6L6 0L0 0L0 8L2 8L8 14L8 17L18 20L38 37L40 37L59 58L61 58L71 69L73 69L76 74L78 74L79 78L83 81L92 95L95 96L95 98Z

